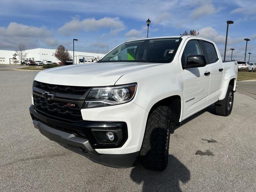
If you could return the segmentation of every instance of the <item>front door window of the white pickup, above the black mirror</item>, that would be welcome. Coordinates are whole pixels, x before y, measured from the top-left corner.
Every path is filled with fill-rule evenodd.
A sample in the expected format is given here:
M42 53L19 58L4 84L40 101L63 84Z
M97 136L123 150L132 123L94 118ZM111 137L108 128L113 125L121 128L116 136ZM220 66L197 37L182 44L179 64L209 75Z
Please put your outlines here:
M202 49L198 40L191 40L186 44L182 55L182 66L186 66L186 61L190 55L202 55Z

